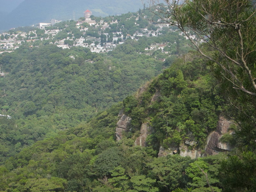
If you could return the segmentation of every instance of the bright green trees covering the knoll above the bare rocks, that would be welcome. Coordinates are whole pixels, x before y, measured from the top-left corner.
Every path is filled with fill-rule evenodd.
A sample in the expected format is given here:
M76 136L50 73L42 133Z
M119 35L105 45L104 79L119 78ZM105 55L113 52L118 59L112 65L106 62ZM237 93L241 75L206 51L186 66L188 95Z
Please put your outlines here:
M187 63L177 60L138 99L124 99L133 132L150 119L155 129L151 139L165 148L179 146L185 139L196 141L200 147L205 145L208 133L216 128L221 100L210 70L197 58ZM151 100L154 94L158 94L156 101Z

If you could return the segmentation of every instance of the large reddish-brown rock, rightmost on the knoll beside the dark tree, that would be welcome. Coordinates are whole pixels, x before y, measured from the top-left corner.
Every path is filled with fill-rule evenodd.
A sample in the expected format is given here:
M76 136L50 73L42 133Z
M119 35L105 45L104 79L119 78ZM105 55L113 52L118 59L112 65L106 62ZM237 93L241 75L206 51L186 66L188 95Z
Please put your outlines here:
M228 143L221 143L220 138L225 133L232 134L232 131L228 131L228 128L232 124L223 115L219 116L216 131L211 132L207 137L207 144L205 146L205 153L208 155L214 155L223 151L231 151L234 147Z

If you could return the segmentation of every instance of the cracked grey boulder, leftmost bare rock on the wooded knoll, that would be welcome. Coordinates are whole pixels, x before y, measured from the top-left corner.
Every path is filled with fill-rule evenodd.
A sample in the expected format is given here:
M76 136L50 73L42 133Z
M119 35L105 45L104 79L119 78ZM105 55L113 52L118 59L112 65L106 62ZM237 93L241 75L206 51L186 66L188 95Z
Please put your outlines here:
M119 141L122 139L123 132L128 130L129 125L131 124L132 118L124 115L124 111L121 110L118 116L121 118L116 124L116 140Z

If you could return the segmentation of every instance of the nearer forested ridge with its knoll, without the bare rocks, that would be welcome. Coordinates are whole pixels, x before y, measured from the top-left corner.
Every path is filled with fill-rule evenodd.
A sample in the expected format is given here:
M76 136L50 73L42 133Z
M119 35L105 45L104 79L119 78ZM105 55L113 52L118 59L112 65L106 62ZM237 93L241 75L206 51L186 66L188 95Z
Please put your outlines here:
M156 89L161 101L150 105ZM216 126L220 104L213 90L214 80L201 59L176 60L139 96L129 96L90 122L38 141L9 158L1 167L5 174L1 190L167 192L179 187L208 191L199 165L207 170L212 188L221 191L219 168L225 155L191 160L179 155L156 158L155 153L160 143L180 142L187 130L204 143L207 131ZM116 142L122 108L133 117L132 132ZM136 128L149 118L156 133L148 137L148 147L134 147Z

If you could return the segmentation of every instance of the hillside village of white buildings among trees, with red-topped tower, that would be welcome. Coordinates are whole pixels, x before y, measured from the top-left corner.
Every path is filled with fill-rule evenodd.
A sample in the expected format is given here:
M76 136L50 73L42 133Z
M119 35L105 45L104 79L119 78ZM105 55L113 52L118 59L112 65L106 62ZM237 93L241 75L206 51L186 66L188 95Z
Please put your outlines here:
M0 34L0 53L12 52L22 44L33 47L40 43L56 44L63 49L82 46L89 48L91 52L108 52L127 39L138 40L142 37L159 36L163 30L172 30L168 24L159 23L160 19L158 22L149 22L149 13L139 10L137 13L99 18L86 10L84 17L77 21L61 22L52 19L50 23L37 24L37 28L28 32L11 29ZM182 33L180 35L183 36ZM150 48L146 48L154 49L162 49L164 52L163 44L152 44Z

